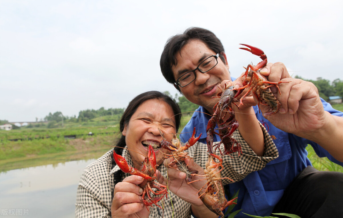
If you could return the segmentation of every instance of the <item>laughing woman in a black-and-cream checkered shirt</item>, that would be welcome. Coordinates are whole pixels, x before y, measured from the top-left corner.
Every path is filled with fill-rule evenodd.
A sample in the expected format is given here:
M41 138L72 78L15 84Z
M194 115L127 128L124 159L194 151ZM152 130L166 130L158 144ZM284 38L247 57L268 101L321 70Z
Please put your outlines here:
M171 141L173 134L176 134L179 128L180 119L180 109L173 99L157 91L142 93L129 103L122 115L120 120L122 136L114 150L126 158L129 165L140 168L147 146L153 144L159 147L159 142L163 140L160 131L166 140ZM238 181L250 172L263 168L267 162L277 157L275 145L263 126L261 128L265 141L262 145L265 148L264 156L267 157L257 156L239 133L233 134L241 143L244 154L240 157L233 154L235 158L229 156L223 158L223 177L228 176ZM120 149L125 146L128 149ZM205 167L203 160L207 160L206 150L207 145L201 143L196 143L187 150L193 161L200 164L199 166L192 163L188 166L190 170L198 170L199 175L203 174ZM168 151L162 148L156 149L156 161L160 165L159 172L167 177L167 168L162 164L163 153ZM245 167L247 164L244 163L248 161L256 162L258 167L254 169ZM161 182L163 182L162 176L159 176ZM205 184L205 180L190 185L178 180L168 182L170 191L177 195L170 192L168 200L159 202L164 208L163 211L157 206L150 207L148 211L141 201L142 189L137 186L142 179L139 176L122 173L113 161L113 149L108 151L84 170L77 192L76 217L159 217L162 214L164 217L190 217L191 208L202 210L204 214L212 213L201 203L196 193L196 190ZM186 186L191 188L185 189Z

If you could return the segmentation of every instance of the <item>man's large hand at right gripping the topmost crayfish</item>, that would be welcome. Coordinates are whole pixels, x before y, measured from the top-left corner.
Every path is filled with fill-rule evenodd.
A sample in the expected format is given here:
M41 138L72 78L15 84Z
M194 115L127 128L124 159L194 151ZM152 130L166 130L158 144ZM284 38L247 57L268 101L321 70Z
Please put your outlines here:
M269 63L261 70L261 74L270 82L288 82L279 84L281 94L276 87L271 88L282 106L278 113L266 117L273 125L304 138L308 138L307 133L324 125L326 113L313 83L291 78L285 65L280 62ZM269 110L263 105L260 105L260 109L261 113Z

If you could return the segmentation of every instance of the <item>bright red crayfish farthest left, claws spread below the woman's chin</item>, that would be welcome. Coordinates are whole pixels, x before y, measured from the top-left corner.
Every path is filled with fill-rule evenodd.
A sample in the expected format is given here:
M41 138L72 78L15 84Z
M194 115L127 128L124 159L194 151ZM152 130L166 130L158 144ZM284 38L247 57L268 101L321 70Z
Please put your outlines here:
M143 189L142 200L146 207L153 206L152 204L157 205L157 202L163 199L164 196L166 196L166 194L168 193L167 187L154 181L156 179L156 167L158 165L156 164L155 151L151 145L149 145L147 156L142 162L140 170L129 166L126 159L120 156L119 154L116 154L116 152L114 151L113 157L114 161L119 166L121 171L123 171L124 173L130 173L131 175L141 176L144 178L143 182L139 184L139 187ZM157 191L154 191L152 188L156 188ZM161 196L151 197L150 192L152 192L155 195ZM161 208L161 206L157 206Z

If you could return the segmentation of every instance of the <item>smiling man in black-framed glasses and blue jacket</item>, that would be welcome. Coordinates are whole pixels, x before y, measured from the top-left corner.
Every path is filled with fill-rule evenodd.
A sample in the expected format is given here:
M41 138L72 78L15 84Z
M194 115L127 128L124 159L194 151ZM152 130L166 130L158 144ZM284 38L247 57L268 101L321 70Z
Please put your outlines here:
M215 56L219 58L214 60ZM210 69L204 65L207 60L211 60ZM200 105L197 109L200 112L213 114L218 99L212 97L220 91L218 85L224 87L225 82L236 87L242 85L242 79L230 82L234 79L230 77L222 43L211 31L202 28L189 28L171 37L160 65L166 80L188 100ZM282 63L269 63L261 73L271 82L288 82L280 84L281 95L276 88L272 89L282 105L277 114L264 118L262 113L268 108L260 105L259 113L254 106L257 119L274 138L279 158L225 187L230 195L239 191L234 210L258 216L269 216L272 212L292 213L302 218L342 216L343 174L319 172L311 167L305 148L310 144L320 157L327 156L343 166L343 113L321 99L314 84L291 78ZM256 105L253 97L245 97L243 104L243 107ZM187 141L196 127L197 134L202 133L199 141L206 143L206 125L211 116L205 113L193 114L182 131L185 134L180 135L181 141ZM215 141L220 141L215 137ZM245 215L239 213L236 217L239 216Z

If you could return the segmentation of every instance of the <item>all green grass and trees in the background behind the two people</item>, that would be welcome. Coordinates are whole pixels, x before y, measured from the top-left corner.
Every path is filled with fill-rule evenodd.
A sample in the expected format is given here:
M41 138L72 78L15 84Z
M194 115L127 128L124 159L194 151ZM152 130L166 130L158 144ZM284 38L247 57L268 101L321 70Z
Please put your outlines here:
M324 88L322 95L327 96L334 90L336 95L343 88L343 82L334 81L333 89L328 82L318 78L318 84ZM317 84L317 85L318 85ZM331 91L330 91L331 90ZM169 95L169 92L165 92ZM170 96L171 97L171 96ZM182 112L179 132L190 120L197 105L188 101L183 95L175 95ZM343 111L343 104L335 104L333 108ZM24 127L15 127L11 131L0 131L0 172L10 169L59 163L71 160L98 158L114 145L120 136L118 123L124 109L103 107L98 110L84 110L79 117L66 117L61 112L49 113L45 122L37 122ZM0 120L0 124L8 123ZM92 133L89 135L89 133ZM64 136L75 138L64 138ZM14 139L19 139L15 141ZM327 158L318 158L311 146L307 147L308 157L314 167L323 171L342 171L342 167Z

